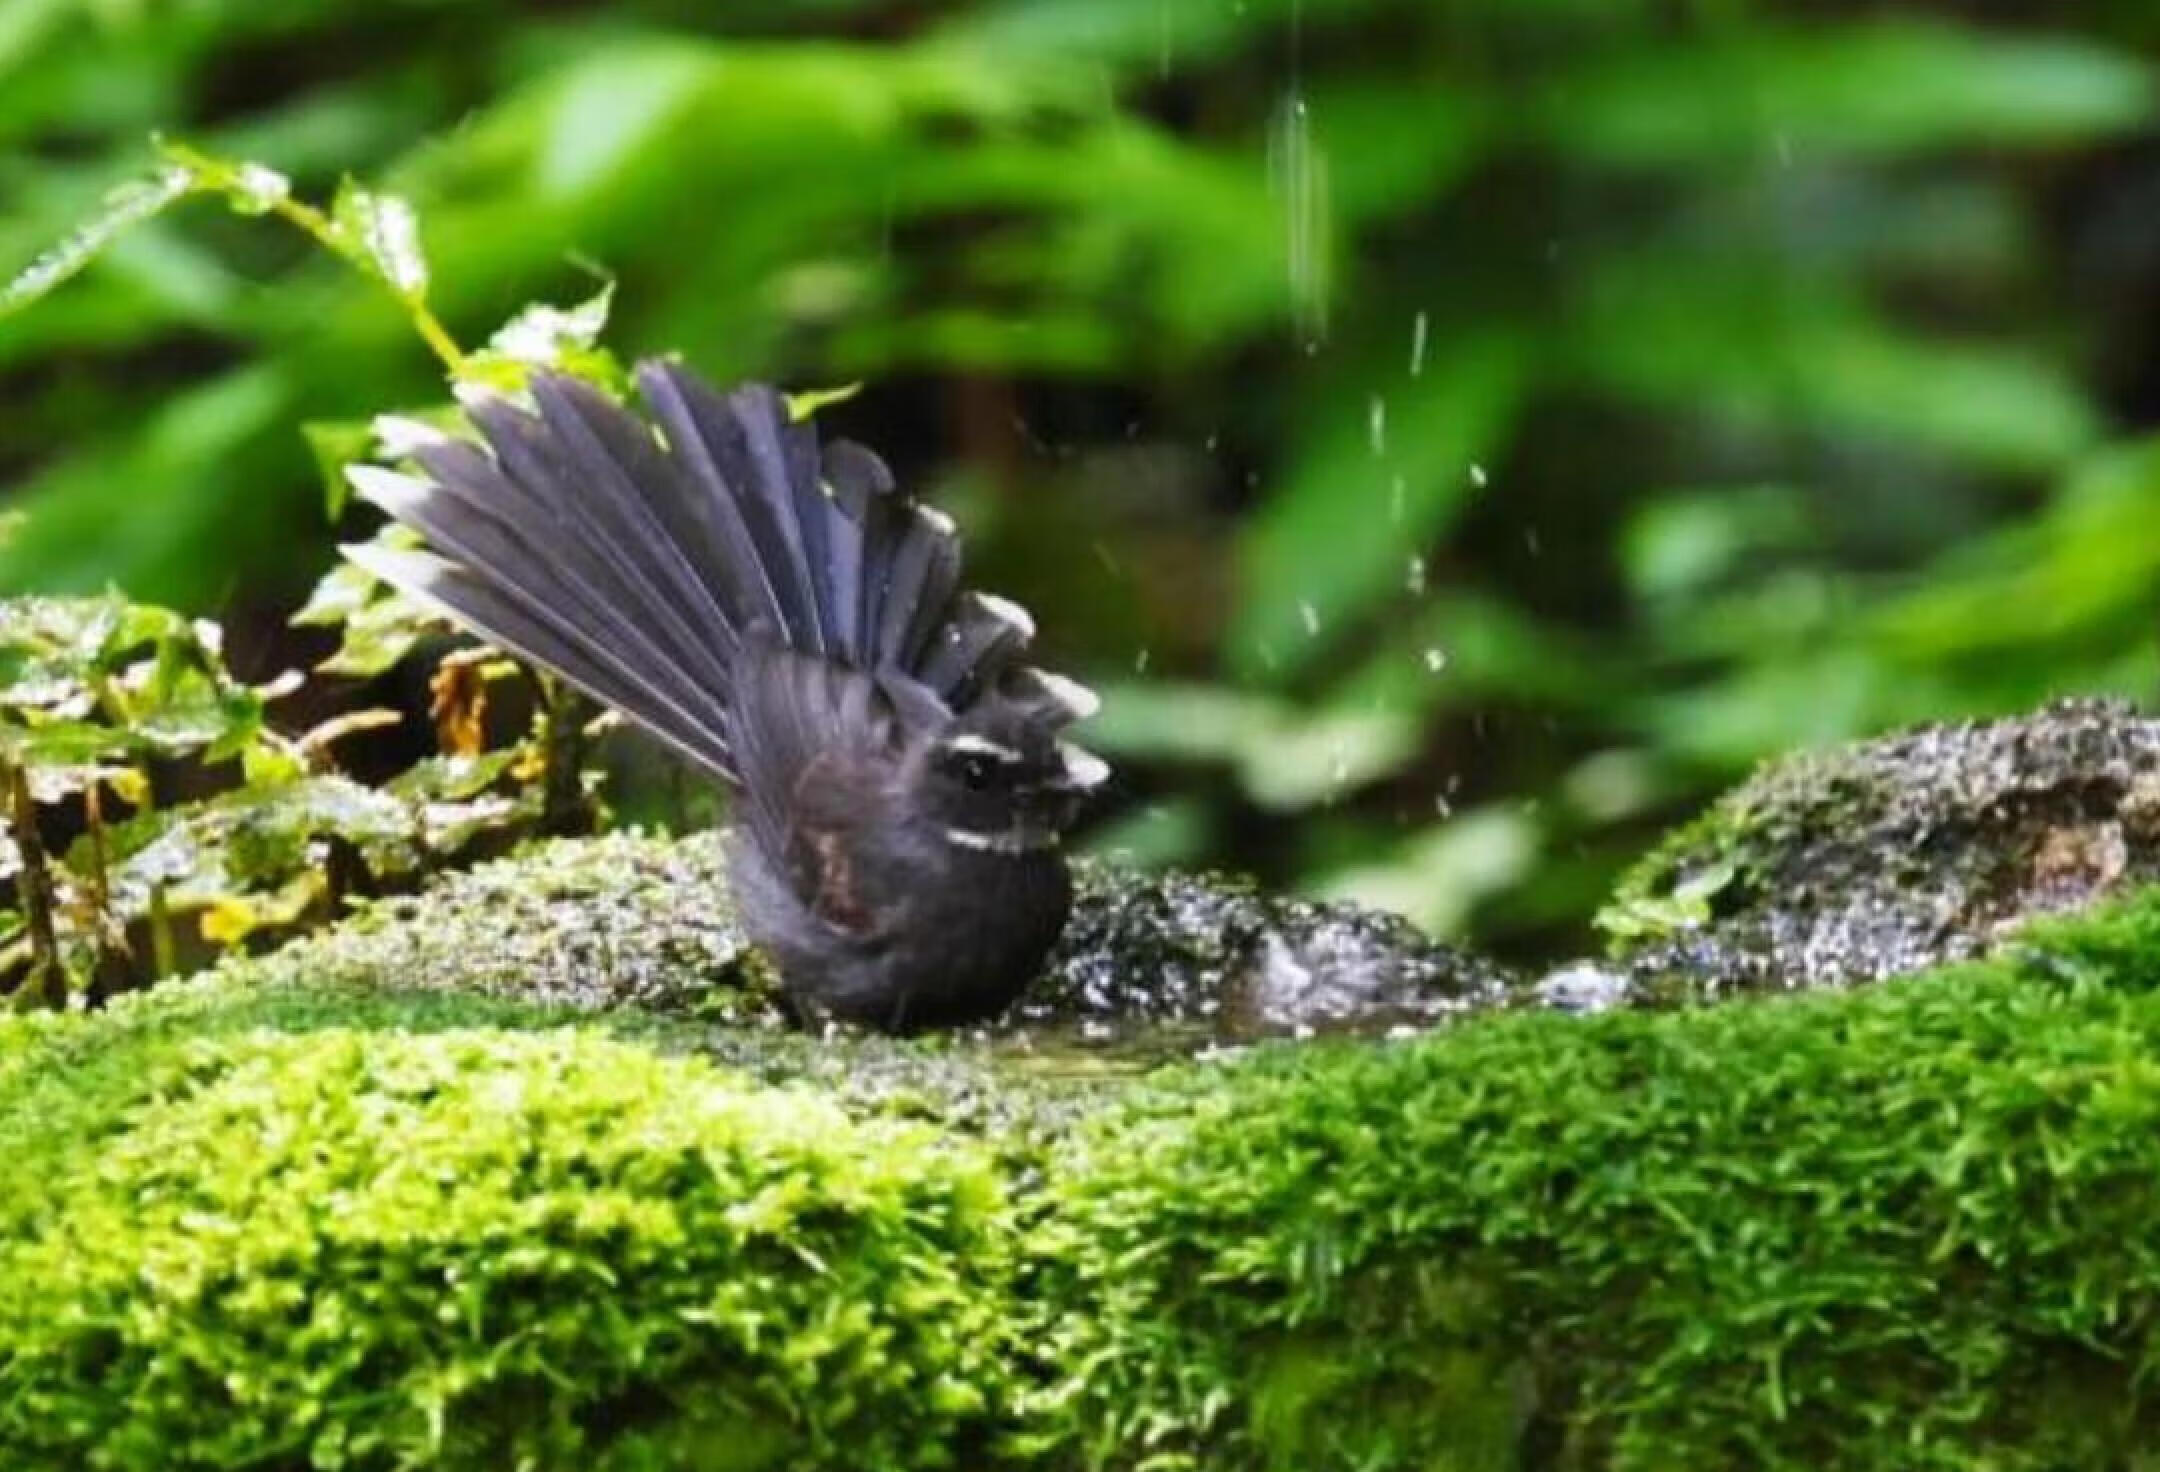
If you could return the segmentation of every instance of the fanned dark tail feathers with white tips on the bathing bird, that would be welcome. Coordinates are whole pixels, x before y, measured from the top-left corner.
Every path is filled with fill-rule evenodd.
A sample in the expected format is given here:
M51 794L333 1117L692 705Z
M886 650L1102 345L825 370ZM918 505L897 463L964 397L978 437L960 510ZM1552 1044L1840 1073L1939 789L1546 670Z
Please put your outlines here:
M421 447L426 476L352 467L430 551L348 556L730 782L726 713L752 635L927 687L946 709L994 685L1065 685L1022 670L1026 612L961 592L953 521L901 495L877 454L821 452L765 385L719 393L650 361L637 387L659 437L583 383L538 374L536 413L471 406L486 447ZM1084 713L1065 696L1039 700L1045 722Z

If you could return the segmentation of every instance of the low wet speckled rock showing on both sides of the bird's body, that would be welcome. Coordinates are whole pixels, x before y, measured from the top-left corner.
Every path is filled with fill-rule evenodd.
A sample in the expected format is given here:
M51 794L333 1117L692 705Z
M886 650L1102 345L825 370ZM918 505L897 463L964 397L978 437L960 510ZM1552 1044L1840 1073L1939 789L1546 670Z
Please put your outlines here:
M1076 891L1045 975L983 1029L1002 1051L1052 1057L1074 1044L1138 1057L1421 1029L1510 994L1499 966L1391 914L1099 862L1078 865ZM378 901L298 951L320 971L400 986L691 1016L767 1040L786 1027L771 975L734 923L717 832L536 845Z

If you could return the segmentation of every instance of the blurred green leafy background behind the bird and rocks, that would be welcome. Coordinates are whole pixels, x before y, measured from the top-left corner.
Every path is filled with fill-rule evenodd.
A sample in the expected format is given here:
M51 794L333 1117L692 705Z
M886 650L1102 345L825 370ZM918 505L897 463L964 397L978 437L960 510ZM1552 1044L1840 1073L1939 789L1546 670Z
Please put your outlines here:
M1099 847L1542 953L1767 752L2151 690L2156 58L2143 0L0 0L0 277L166 130L410 197L462 342L611 277L622 354L860 378L1104 690ZM300 426L441 393L168 212L0 320L0 590L318 657Z

